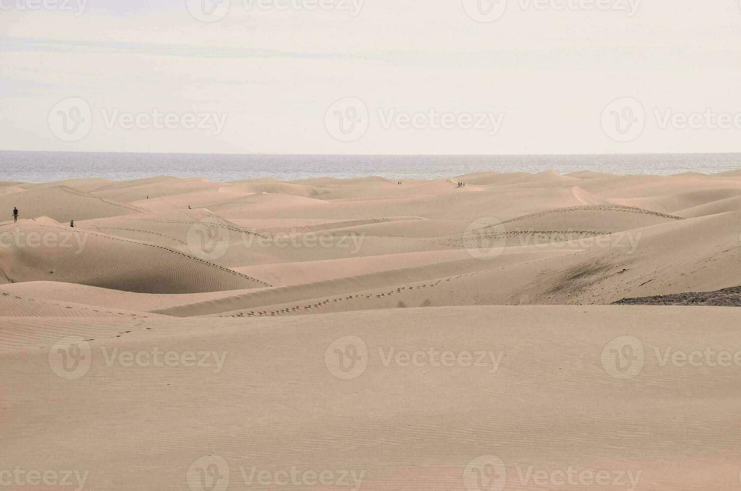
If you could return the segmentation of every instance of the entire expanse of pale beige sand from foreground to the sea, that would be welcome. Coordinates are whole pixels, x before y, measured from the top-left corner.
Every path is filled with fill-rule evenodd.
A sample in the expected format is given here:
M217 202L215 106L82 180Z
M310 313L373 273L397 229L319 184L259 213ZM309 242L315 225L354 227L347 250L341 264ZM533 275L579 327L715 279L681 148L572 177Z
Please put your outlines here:
M227 489L199 484L212 470L230 471L229 490L355 489L240 472L295 467L365 472L361 490L491 491L476 487L491 458L466 467L496 455L496 491L571 489L525 478L570 468L640 472L585 490L741 487L741 355L662 361L741 352L741 310L605 305L739 285L738 173L403 182L0 183L0 472L87 471L86 491ZM370 353L347 380L325 364L344 336ZM609 344L621 336L640 346ZM385 366L379 347L502 358ZM136 358L153 350L226 358ZM645 366L619 378L603 350ZM92 366L60 377L64 356Z

